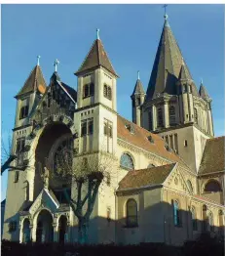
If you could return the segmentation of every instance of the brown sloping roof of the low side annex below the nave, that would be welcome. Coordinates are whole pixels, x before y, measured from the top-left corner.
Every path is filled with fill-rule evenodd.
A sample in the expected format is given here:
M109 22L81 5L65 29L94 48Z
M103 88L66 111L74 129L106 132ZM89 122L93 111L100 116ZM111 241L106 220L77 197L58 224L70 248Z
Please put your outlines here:
M170 163L158 167L129 171L119 183L118 190L139 189L146 186L163 184L174 166L175 163Z

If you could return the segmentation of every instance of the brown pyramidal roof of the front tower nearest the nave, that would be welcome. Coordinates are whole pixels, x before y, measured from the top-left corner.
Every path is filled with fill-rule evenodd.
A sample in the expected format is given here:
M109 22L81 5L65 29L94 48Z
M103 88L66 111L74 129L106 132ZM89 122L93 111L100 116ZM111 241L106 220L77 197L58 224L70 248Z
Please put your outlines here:
M96 39L90 52L86 56L85 61L83 64L81 64L80 68L75 72L75 74L78 75L84 71L88 71L98 66L103 66L111 73L118 76L108 59L107 53L104 50L101 40Z

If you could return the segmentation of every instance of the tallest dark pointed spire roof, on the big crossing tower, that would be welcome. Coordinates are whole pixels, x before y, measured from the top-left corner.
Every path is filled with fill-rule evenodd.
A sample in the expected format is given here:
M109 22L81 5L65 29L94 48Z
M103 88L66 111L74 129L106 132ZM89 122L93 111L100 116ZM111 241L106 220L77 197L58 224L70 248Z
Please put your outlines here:
M182 63L185 66L185 76L188 79L192 79L191 73L183 60L179 46L170 29L168 16L165 15L165 23L153 64L146 99L155 98L159 93L175 95L175 83L178 79Z

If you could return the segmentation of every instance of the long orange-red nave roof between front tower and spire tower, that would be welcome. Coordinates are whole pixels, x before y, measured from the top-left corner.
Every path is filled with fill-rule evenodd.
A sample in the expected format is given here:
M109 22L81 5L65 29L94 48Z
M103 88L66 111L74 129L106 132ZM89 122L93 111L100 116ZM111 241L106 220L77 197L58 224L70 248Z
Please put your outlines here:
M132 133L128 128L126 128L127 125L132 127ZM117 115L117 136L133 146L155 153L171 162L180 162L188 168L187 164L179 157L178 154L165 148L166 143L159 135L150 133L144 128L123 118L119 114ZM154 143L149 142L149 136L151 136Z

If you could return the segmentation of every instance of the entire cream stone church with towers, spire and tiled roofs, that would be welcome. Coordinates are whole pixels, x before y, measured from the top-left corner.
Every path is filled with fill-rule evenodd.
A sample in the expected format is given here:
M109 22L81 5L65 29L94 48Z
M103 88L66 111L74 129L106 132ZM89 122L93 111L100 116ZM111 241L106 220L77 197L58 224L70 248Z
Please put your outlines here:
M133 81L132 121L117 112L119 75L98 30L75 72L77 90L62 82L57 64L47 85L38 57L15 97L17 158L8 172L2 238L78 241L66 185L41 175L47 165L56 172L56 155L67 149L79 157L113 155L96 194L89 243L182 245L203 233L224 235L224 137L214 137L212 100L203 81L199 87L193 80L168 16L147 91L139 74ZM73 183L68 191L77 196Z

